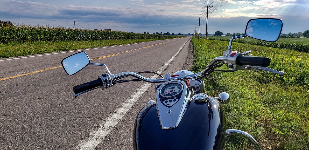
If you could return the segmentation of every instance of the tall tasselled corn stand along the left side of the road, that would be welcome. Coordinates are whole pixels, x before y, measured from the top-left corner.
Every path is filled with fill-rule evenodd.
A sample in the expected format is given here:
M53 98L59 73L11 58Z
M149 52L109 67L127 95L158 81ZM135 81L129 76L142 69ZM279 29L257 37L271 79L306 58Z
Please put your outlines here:
M84 40L134 40L168 39L165 35L142 34L111 30L87 30L49 26L4 26L0 25L0 43L34 41L84 41Z

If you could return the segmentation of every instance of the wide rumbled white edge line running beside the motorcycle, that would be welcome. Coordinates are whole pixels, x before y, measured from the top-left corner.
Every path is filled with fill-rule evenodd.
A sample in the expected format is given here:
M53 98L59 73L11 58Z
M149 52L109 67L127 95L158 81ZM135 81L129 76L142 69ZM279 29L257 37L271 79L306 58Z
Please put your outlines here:
M191 39L191 38L190 38ZM189 40L190 40L189 39ZM184 45L189 41L187 40ZM171 63L171 61L177 56L177 54L181 51L182 47L168 60L164 65L162 65L156 73L162 73L164 69L167 68L167 65ZM158 75L153 75L150 78L155 79ZM78 150L94 150L105 138L105 136L114 129L117 123L121 120L121 118L126 114L128 110L130 110L135 104L137 100L144 94L144 92L150 87L151 83L144 83L138 89L127 98L119 108L115 110L115 113L112 113L108 116L106 120L100 123L98 129L93 130L90 134L85 138L82 142L80 142L76 149Z

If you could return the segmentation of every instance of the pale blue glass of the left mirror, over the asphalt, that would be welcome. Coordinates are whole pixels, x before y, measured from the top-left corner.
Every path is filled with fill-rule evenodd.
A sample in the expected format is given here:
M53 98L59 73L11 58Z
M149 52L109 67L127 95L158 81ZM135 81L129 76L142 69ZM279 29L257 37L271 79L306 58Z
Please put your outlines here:
M63 69L68 75L73 75L82 70L90 63L89 57L85 52L78 52L61 61Z

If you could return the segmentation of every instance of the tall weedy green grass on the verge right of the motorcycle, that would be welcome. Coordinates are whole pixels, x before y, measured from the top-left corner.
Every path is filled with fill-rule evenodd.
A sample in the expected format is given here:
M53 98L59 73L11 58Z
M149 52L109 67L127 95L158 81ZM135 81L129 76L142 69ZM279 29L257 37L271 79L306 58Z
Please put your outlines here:
M222 56L227 46L226 41L193 38L193 71L201 71L211 59ZM308 149L309 54L241 43L233 43L233 50L252 50L253 56L269 57L269 68L286 74L240 70L206 77L210 96L220 92L231 96L231 102L223 105L228 128L248 132L263 149ZM243 138L228 137L226 149L253 149Z

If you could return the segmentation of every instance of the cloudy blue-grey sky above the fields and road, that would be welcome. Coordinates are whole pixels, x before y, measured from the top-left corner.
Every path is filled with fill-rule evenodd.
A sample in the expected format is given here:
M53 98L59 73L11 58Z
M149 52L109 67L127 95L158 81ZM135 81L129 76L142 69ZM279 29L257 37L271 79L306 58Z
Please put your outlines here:
M282 33L309 30L308 0L209 0L208 33L244 33L252 18L279 18ZM135 33L206 32L207 0L0 0L0 20Z

